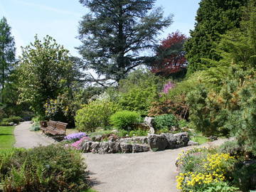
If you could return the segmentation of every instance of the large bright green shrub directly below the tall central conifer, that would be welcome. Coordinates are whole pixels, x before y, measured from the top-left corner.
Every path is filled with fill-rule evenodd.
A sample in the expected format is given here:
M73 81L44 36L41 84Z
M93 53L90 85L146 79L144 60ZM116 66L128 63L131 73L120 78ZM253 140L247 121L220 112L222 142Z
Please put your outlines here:
M151 106L159 97L159 87L163 80L149 71L136 70L119 82L119 105L124 110L136 111L146 115Z

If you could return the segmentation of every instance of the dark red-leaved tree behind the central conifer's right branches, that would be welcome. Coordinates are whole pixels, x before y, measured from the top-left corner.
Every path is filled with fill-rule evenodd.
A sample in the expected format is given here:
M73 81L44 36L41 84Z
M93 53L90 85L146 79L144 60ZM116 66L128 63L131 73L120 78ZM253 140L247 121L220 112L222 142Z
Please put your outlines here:
M185 35L176 31L161 41L161 45L156 49L156 60L151 65L151 72L169 76L186 68L186 53L183 50L186 39Z

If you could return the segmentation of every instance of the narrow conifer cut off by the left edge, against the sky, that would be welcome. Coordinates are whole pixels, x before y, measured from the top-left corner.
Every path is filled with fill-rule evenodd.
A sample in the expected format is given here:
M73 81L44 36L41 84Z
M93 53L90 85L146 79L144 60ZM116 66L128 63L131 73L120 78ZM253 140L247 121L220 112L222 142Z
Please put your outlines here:
M11 36L11 27L6 18L0 20L0 82L1 92L4 92L4 85L11 72L15 61L15 42ZM4 102L4 95L1 94L1 102Z

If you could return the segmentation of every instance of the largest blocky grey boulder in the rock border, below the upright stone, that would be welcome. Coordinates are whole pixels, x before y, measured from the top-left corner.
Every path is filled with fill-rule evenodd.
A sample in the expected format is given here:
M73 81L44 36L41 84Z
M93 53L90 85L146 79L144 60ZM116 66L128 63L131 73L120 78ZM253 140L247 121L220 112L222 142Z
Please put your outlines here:
M164 135L151 134L149 136L149 146L153 151L162 151L169 146L169 142Z

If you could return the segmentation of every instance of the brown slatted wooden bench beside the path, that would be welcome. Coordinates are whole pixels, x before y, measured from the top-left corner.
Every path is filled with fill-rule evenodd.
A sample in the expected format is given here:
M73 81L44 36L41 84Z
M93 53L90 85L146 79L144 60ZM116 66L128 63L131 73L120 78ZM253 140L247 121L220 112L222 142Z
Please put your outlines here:
M44 134L52 134L54 136L65 136L65 130L68 123L64 122L55 122L55 121L48 121L48 122L40 122L42 133Z

